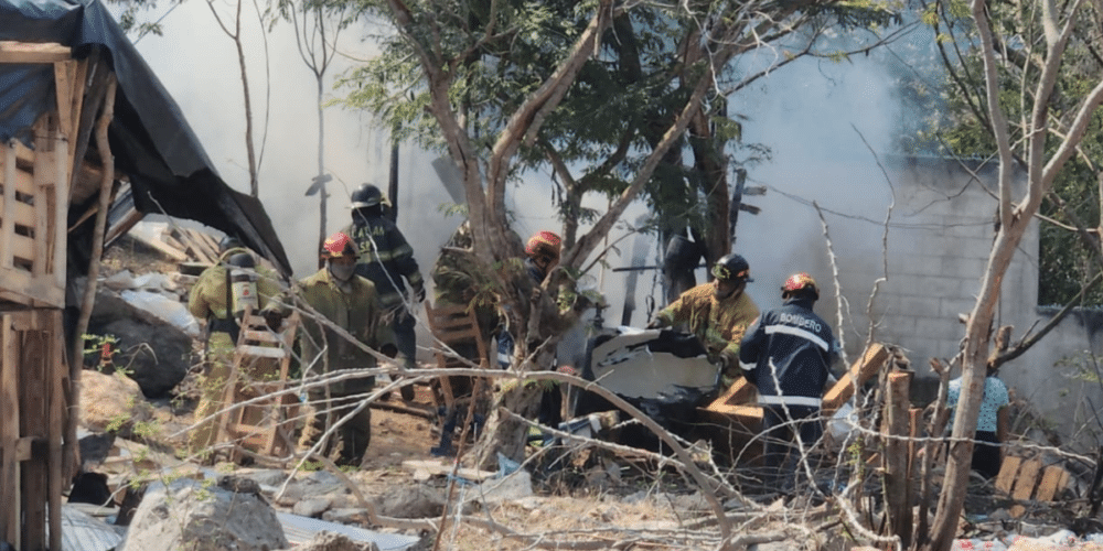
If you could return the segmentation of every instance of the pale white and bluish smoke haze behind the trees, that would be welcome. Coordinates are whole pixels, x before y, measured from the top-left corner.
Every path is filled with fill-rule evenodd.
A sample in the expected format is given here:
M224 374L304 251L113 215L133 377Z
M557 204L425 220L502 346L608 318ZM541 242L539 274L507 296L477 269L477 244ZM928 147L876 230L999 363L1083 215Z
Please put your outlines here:
M228 13L229 3L215 2ZM164 13L161 10L157 17ZM185 2L162 21L165 35L146 36L137 44L169 93L180 104L207 154L223 179L247 192L245 170L242 84L233 41L217 26L206 2ZM291 258L296 276L314 269L318 238L318 197L304 197L310 179L317 173L317 118L314 83L295 46L287 25L268 35L269 68L264 64L265 45L255 17L245 30L249 54L249 79L254 116L259 138L267 128L261 164L261 199ZM353 57L372 55L370 44L360 41L360 32L345 31L341 50ZM339 58L333 75L351 63ZM891 79L869 58L853 63L802 61L775 72L769 79L741 93L731 101L731 110L746 117L745 139L771 148L773 160L754 168L750 184L770 191L762 197L749 197L763 208L762 214L743 213L736 246L751 263L757 281L749 293L760 305L778 302L778 287L792 271L824 269L823 238L818 217L810 206L816 201L840 213L863 213L874 219L884 217L890 194L876 170L875 151L887 148L892 120L899 108L888 91ZM270 88L266 85L270 84ZM333 94L330 83L324 86ZM267 125L264 122L266 95L270 94ZM326 171L334 175L330 184L328 233L349 220L347 193L361 182L372 181L386 188L389 147L386 136L373 129L372 121L356 112L331 107L325 115ZM860 132L860 134L859 134ZM439 246L460 222L446 219L438 207L448 203L429 163L435 155L404 147L399 166L399 226L414 245L424 274ZM546 176L544 176L546 179ZM540 175L533 175L538 181ZM517 212L515 229L528 235L537 229L557 229L550 215L548 185L526 187L522 196L511 196ZM595 205L597 206L597 205ZM630 210L635 220L642 206ZM427 220L429 223L427 223ZM845 222L844 222L845 220ZM869 247L876 250L879 235L874 225L850 218L829 218L837 233L836 247L850 250ZM874 231L870 231L874 228ZM853 240L853 242L850 242ZM846 241L846 242L843 242ZM631 241L621 246L624 258L613 256L612 266L630 263ZM651 250L655 250L654 246ZM704 271L699 271L700 276ZM815 273L827 279L829 273ZM606 273L604 292L613 309L607 314L620 320L623 273ZM592 278L597 284L598 276ZM703 281L703 279L699 279ZM651 273L640 278L640 307L654 289ZM634 324L644 320L636 314Z

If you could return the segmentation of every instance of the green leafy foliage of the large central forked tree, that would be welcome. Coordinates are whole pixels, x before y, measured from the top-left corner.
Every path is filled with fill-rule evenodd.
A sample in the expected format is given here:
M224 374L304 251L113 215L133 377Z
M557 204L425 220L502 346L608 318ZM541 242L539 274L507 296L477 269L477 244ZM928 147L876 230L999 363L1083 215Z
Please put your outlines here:
M489 152L511 117L570 52L597 2L420 0L405 6L411 24L400 26L399 33L379 36L382 55L341 75L338 87L347 94L339 102L371 111L400 139L413 138L422 147L445 152L447 137L429 109L430 90L421 67L425 61L418 56L421 52L429 58L425 63L443 71L449 107L463 121L465 138L475 150ZM517 151L510 166L516 182L525 171L547 171L549 158L570 168L572 181L557 181L554 194L565 220L585 224L596 219L600 213L580 208L580 197L619 196L684 108L695 79L707 74L709 63L706 54L687 65L687 41L754 28L748 26L748 12L759 9L765 18L775 11L793 24L807 23L816 30L813 32L823 30L827 22L844 30L900 22L899 4L871 0L811 3L799 14L786 6L769 3L753 10L727 1L692 7L707 9L707 13L687 13L686 7L681 2L640 4L613 20L600 48L581 67L558 108L542 120L535 139ZM361 9L370 19L394 22L384 3L367 2ZM791 30L782 26L756 28L760 35L741 40L771 43L783 56L803 55L785 43ZM833 55L846 57L837 48ZM714 67L718 69L718 86L746 77L733 67ZM703 112L713 121L707 142L681 141L647 184L647 203L664 220L664 228L706 231L725 222L710 219L705 196L716 184L703 177L698 168L683 164L678 154L683 149L705 145L743 168L763 159L764 148L740 143L742 122L728 112L722 95L706 99Z

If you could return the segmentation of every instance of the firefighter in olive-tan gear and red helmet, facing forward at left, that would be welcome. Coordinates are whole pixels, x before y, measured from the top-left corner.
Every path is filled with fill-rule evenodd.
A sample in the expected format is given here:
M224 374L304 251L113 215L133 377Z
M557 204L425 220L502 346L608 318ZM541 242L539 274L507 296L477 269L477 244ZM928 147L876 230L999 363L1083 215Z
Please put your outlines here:
M352 238L343 233L330 236L322 245L321 258L325 266L299 282L293 300L277 299L265 307L268 323L278 324L282 316L290 313L290 303L298 300L371 348L378 350L390 343L390 331L383 327L375 284L356 274L357 249ZM302 322L299 347L303 365L309 366L306 378L339 369L376 367L372 353L310 316ZM325 356L321 357L322 354ZM358 466L372 437L372 411L363 399L374 387L374 377L310 387L307 397L311 408L299 446L307 450L313 447L329 428L351 414L336 429L334 436L326 439L319 453L333 458L339 465Z

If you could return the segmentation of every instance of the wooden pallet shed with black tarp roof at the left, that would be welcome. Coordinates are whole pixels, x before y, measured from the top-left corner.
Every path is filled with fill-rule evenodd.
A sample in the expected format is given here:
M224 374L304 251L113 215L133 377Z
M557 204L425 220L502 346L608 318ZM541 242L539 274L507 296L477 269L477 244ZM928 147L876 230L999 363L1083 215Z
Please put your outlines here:
M124 191L132 206L109 227ZM0 0L0 542L14 549L62 548L92 307L74 282L94 290L108 236L148 213L238 237L290 273L259 201L222 181L98 0Z

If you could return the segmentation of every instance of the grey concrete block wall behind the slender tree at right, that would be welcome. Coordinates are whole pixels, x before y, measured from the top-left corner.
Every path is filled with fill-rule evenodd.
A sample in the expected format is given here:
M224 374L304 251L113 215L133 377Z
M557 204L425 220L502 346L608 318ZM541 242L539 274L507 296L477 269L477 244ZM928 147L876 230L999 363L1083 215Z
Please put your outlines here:
M973 309L987 267L995 231L996 199L989 191L996 188L996 168L965 170L952 160L899 158L887 162L886 169L895 182L895 205L887 238L888 278L880 283L872 307L875 339L903 347L917 376L933 378L928 361L957 354L964 335L959 314ZM1020 174L1016 198L1024 186ZM853 256L845 250L836 253L842 294L849 303L845 341L854 358L866 341L870 323L866 304L874 281L885 274L884 263L868 258L868 249ZM834 301L825 299L818 310L834 324ZM1019 339L1031 327L1045 325L1056 310L1038 306L1035 222L1004 278L995 323L1013 325L1013 338ZM1034 415L1014 428L1017 432L1045 425L1065 444L1082 439L1085 428L1103 434L1094 413L1103 408L1103 385L1092 378L1091 354L1103 355L1103 313L1081 311L1002 368L1000 378L1027 400Z

